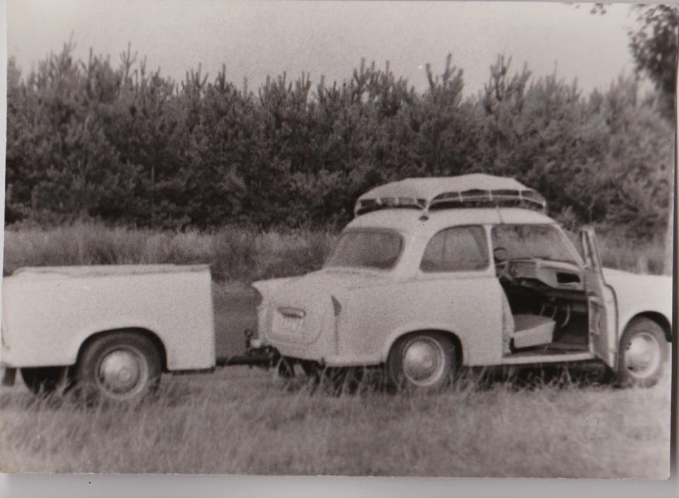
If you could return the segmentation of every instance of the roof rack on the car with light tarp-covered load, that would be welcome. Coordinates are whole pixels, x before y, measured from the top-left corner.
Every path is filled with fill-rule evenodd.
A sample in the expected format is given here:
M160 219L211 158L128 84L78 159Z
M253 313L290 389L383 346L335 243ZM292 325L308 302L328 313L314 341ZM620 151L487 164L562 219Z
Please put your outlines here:
M387 183L361 195L354 215L378 209L434 209L468 207L523 207L545 212L547 201L540 192L513 178L475 173L443 178L407 178Z

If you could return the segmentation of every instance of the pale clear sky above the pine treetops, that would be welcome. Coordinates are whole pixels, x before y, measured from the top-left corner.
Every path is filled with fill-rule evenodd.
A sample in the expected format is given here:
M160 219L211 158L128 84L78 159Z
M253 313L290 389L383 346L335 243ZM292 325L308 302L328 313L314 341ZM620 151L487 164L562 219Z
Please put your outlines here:
M629 4L608 6L537 2L9 0L8 57L23 73L71 35L75 54L89 48L119 54L132 44L148 69L183 79L202 65L210 79L226 64L227 79L255 89L267 74L311 73L326 81L352 76L361 58L426 87L424 66L443 71L446 55L464 71L465 94L476 93L498 54L516 71L577 79L585 91L608 88L634 70L627 30Z

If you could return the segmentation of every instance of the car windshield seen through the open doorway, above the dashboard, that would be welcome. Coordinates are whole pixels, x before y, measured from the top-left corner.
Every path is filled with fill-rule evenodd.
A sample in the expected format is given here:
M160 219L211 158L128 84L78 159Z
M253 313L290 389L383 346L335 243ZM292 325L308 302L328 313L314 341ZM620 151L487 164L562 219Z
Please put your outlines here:
M532 259L578 263L566 236L552 225L497 225L493 248L505 248L510 260Z

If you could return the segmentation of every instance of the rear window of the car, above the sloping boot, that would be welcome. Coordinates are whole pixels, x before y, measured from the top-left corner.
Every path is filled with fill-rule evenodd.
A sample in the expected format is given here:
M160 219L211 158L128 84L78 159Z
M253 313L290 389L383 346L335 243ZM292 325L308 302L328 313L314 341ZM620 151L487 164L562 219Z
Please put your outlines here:
M390 270L402 248L403 240L396 232L350 230L342 233L324 266Z

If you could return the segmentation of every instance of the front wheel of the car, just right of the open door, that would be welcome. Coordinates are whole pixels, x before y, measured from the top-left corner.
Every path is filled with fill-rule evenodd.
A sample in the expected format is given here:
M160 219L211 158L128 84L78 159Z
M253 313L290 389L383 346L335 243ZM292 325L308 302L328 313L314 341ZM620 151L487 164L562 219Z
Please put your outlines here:
M634 318L620 339L616 381L620 386L655 386L668 357L667 340L660 325L649 318Z

